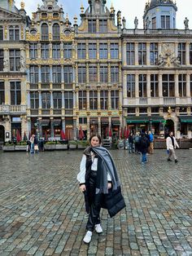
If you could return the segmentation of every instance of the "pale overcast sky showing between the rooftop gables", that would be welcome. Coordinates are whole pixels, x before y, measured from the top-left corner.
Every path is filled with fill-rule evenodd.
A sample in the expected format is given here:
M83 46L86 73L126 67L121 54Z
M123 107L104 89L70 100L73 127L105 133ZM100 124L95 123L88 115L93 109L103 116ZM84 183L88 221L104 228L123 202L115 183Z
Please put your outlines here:
M28 2L28 0L23 0L25 2L25 10L28 15L31 16L33 11L37 11L37 4L42 4L41 0L33 0ZM21 0L15 0L16 7L20 8ZM116 12L121 11L122 17L126 19L126 27L129 29L134 28L133 20L137 16L139 24L138 28L142 29L142 15L145 8L146 0L107 0L107 7L110 9L111 2L115 7ZM174 0L175 2L175 0ZM184 29L183 20L188 17L190 20L189 27L192 29L192 0L176 0L177 2L177 29ZM63 6L64 15L68 13L69 19L73 24L73 16L78 17L78 24L80 24L80 7L83 3L85 9L89 6L88 0L59 0L59 6Z

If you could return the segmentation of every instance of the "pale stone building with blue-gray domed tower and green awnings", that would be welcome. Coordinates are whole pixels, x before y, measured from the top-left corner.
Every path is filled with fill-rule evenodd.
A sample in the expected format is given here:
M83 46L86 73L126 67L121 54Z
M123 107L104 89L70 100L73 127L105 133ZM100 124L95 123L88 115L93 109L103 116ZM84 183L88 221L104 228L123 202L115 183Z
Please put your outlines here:
M191 138L192 31L172 0L146 3L144 29L123 29L123 116L129 129Z

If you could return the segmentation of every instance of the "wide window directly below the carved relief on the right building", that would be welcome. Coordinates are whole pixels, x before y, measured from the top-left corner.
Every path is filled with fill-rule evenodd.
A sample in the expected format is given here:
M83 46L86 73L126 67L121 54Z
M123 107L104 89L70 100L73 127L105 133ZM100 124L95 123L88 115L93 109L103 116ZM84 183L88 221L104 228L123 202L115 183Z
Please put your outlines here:
M163 75L163 96L175 97L174 75L171 75L171 74Z

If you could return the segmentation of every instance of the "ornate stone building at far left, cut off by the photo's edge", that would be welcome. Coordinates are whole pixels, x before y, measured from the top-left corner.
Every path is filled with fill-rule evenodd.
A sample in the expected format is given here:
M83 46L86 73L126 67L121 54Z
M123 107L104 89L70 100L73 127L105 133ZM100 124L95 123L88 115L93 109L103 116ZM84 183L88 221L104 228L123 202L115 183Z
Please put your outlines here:
M1 1L0 143L14 139L17 131L23 137L27 126L25 29L29 21L24 2L18 10L14 1Z

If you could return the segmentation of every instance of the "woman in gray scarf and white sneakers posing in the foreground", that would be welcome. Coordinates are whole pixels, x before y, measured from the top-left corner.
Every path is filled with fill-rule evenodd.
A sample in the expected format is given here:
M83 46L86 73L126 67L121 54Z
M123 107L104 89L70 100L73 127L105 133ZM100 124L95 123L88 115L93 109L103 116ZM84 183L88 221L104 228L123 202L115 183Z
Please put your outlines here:
M89 214L86 225L85 243L91 241L94 229L103 232L99 217L101 208L106 208L110 217L125 207L120 181L111 154L101 147L101 136L92 135L90 146L85 149L77 180L85 195L85 209Z

